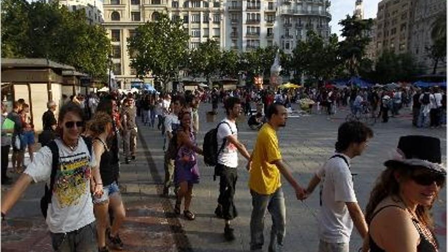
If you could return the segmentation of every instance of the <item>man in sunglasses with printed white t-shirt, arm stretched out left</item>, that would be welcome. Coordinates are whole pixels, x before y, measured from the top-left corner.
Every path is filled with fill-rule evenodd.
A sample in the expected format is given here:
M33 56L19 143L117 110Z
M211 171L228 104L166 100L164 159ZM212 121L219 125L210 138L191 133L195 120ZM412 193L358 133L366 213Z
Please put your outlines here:
M92 193L101 195L102 181L98 169L92 168L96 163L95 154L90 154L87 143L79 136L84 125L83 111L77 104L69 102L61 107L58 122L61 138L50 143L59 153L54 177L51 176L53 151L46 146L36 153L33 162L3 197L2 218L33 181L48 182L53 177L49 189L51 202L43 212L53 250L97 252ZM92 184L92 175L96 184Z

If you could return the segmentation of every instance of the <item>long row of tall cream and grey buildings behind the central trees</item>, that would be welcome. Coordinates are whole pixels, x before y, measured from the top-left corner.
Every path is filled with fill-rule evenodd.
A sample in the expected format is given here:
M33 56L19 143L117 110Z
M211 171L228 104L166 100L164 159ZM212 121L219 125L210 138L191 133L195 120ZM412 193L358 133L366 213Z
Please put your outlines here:
M277 45L291 53L309 30L328 38L329 6L328 0L104 0L103 25L112 41L114 74L119 86L128 88L141 80L129 67L127 40L161 13L183 20L190 48L213 39L226 50Z

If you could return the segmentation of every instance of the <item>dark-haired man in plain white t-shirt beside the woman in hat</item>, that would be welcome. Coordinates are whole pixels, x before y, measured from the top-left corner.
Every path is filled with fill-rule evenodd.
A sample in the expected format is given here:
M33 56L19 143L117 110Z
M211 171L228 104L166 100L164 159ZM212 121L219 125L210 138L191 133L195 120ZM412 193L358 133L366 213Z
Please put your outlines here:
M368 234L368 226L353 189L350 160L362 154L372 137L372 129L361 122L343 123L338 130L334 155L306 188L304 198L322 181L318 218L319 252L348 252L353 224L362 238Z

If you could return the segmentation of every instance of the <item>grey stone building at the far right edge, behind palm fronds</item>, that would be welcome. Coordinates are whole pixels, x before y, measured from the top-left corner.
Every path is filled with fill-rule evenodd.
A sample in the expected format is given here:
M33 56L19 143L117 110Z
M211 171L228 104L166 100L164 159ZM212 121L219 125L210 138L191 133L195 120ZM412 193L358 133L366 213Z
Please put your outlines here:
M426 48L433 44L431 30L437 17L446 15L446 0L414 0L413 7L409 51L426 73L432 73L434 62ZM439 61L436 73L446 73L446 62Z

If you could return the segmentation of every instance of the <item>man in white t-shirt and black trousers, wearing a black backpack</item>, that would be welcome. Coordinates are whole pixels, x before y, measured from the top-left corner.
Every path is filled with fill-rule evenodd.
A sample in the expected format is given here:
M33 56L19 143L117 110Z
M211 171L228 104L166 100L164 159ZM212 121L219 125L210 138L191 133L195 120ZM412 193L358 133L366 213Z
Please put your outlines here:
M250 159L250 154L246 147L238 141L238 129L235 120L242 110L240 99L229 97L224 107L227 117L219 123L216 137L218 141L218 160L215 171L218 171L217 175L220 179L218 206L215 213L225 220L224 236L226 240L232 241L235 239L235 235L230 227L230 220L238 215L233 201L238 179L238 152L247 160Z

